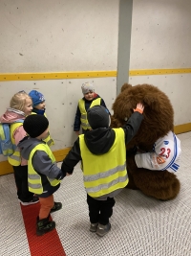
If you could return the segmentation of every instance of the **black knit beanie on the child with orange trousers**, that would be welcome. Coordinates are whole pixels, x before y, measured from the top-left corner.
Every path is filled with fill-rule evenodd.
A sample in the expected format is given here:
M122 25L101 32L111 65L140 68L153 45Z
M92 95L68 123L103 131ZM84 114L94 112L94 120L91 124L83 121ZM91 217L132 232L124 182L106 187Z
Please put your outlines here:
M48 127L49 121L43 115L29 115L23 123L23 128L32 138L41 135Z

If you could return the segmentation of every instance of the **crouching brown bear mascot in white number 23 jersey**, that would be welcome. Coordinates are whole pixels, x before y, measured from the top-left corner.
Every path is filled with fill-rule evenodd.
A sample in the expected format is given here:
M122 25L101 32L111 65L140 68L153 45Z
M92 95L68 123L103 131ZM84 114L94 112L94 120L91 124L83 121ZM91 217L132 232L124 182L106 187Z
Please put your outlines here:
M174 111L168 97L150 84L123 84L113 105L111 127L123 127L139 102L144 105L144 119L137 135L126 145L127 188L139 189L160 200L176 198L180 192L180 181L175 175L179 169L180 141L173 132Z

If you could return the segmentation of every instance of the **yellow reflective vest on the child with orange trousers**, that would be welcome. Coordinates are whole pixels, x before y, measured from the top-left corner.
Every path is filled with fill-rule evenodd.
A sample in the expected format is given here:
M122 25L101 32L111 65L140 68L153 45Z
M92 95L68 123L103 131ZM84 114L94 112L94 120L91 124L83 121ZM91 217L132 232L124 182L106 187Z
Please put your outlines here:
M45 151L49 157L52 159L52 162L55 162L55 158L53 156L53 152L50 150L47 144L38 144L35 148L33 148L32 152L30 153L30 158L28 161L28 184L29 184L29 191L32 193L36 193L38 195L43 193L43 184L41 180L41 175L35 172L32 166L32 156L35 151ZM52 186L56 186L60 183L60 180L55 178L49 178L47 176L48 181Z

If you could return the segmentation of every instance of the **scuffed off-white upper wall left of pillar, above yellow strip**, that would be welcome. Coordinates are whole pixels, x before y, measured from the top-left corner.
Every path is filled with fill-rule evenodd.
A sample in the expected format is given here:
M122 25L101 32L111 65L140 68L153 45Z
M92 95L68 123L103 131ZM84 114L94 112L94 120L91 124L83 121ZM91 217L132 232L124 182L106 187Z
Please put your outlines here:
M0 73L117 70L118 0L1 0Z

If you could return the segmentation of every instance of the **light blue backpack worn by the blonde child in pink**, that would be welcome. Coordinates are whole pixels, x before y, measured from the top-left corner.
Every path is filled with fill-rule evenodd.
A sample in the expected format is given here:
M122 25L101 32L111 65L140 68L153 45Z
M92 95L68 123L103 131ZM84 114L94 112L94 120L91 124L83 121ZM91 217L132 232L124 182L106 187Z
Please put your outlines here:
M20 119L14 123L23 123L24 120ZM0 123L0 154L4 156L10 156L16 149L16 145L13 145L11 142L11 124L2 124Z

